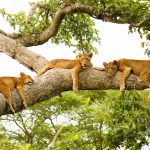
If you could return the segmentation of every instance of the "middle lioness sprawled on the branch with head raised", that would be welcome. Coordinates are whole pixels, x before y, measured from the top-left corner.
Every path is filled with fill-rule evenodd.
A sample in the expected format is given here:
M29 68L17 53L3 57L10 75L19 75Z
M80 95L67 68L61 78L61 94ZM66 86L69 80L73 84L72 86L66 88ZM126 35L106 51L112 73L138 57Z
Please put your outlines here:
M52 68L63 68L63 69L73 69L72 70L72 79L73 79L73 90L78 91L78 80L79 73L85 68L92 68L91 58L93 54L78 54L76 60L68 59L54 59L50 61L38 74L36 77L39 77L47 70Z

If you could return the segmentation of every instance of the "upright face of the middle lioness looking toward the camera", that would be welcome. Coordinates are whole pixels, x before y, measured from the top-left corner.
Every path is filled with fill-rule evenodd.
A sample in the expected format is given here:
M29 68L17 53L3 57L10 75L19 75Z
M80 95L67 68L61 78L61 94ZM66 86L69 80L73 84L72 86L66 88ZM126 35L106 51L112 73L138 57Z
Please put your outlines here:
M87 54L79 54L78 60L80 61L80 64L83 68L88 68L91 65L91 58L93 54L87 53Z

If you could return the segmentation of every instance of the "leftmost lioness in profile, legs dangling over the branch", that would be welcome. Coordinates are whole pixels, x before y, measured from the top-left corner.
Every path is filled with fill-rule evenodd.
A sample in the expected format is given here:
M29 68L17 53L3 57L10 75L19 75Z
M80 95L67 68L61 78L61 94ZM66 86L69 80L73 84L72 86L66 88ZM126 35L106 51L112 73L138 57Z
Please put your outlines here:
M0 77L0 93L5 96L6 102L13 113L15 113L15 110L12 106L11 91L16 88L23 99L23 105L27 107L24 85L32 82L33 79L23 72L20 73L20 77Z

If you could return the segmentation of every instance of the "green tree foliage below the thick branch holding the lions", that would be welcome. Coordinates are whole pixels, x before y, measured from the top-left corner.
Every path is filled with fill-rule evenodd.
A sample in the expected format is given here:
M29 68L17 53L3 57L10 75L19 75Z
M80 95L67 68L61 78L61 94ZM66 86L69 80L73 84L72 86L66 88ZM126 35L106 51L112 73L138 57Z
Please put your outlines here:
M149 144L150 103L148 92L65 92L15 116L1 117L1 139L16 149L45 149L59 127L55 150L140 150ZM6 124L15 123L15 130ZM5 135L5 136L4 136ZM32 136L31 136L32 135ZM22 138L21 138L22 137ZM29 137L31 140L29 140ZM1 140L2 141L2 140ZM22 147L23 148L23 147Z

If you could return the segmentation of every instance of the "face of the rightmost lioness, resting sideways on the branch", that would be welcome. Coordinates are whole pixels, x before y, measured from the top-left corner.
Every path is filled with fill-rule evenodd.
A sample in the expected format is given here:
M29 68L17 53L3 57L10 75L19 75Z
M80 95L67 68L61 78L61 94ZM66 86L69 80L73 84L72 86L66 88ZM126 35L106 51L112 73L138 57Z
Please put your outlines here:
M106 73L108 73L110 76L113 76L117 72L117 64L115 60L109 63L104 62L103 65Z

